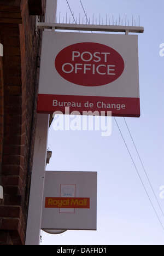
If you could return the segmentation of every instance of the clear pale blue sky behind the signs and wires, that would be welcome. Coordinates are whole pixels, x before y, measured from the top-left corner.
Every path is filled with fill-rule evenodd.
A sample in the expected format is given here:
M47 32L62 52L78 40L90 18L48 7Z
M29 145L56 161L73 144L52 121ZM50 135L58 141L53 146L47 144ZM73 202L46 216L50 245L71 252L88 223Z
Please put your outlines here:
M141 114L140 118L112 118L109 137L95 130L54 131L51 125L52 158L46 170L98 173L97 231L43 232L40 245L164 245L163 0L81 0L84 10L80 0L58 0L61 22L66 13L68 20L72 17L67 2L81 20L85 20L84 10L90 20L93 13L98 21L101 14L103 22L107 14L111 22L120 17L123 25L126 15L130 25L132 15L133 25L134 19L136 25L140 20L144 27L144 33L138 34ZM53 21L52 8L49 15L46 19Z

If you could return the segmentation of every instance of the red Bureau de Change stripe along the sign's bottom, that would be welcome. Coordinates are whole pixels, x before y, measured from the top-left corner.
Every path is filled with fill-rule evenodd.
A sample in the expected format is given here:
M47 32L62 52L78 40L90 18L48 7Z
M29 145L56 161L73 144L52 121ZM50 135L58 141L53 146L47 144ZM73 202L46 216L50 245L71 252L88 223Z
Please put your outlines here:
M66 107L69 107L69 112L66 112ZM108 111L112 111L113 117L140 117L140 103L139 98L38 95L38 113L51 114L56 111L63 114L71 114L73 111L80 114L85 114L84 112L88 111L98 111L99 115L101 111L105 112L106 115Z

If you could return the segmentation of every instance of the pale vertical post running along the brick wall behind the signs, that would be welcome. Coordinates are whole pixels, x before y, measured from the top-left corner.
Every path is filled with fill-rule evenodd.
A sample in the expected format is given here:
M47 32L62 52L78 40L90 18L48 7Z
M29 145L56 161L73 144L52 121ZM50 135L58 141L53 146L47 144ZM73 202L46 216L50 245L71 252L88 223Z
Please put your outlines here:
M57 0L47 0L46 15L52 9L57 9ZM31 177L30 202L25 245L40 244L40 228L42 220L42 201L44 189L44 174L46 166L47 141L49 129L49 114L37 114L36 139L34 144L33 168Z

